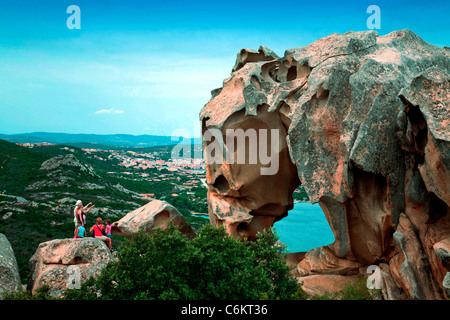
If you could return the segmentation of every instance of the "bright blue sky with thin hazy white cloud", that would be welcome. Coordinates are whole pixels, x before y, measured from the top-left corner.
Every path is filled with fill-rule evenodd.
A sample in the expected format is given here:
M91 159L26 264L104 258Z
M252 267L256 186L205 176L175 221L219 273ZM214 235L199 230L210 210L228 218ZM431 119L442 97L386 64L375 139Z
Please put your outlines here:
M70 5L80 29L69 29ZM450 1L0 0L0 133L198 136L242 48L279 56L332 33L411 29L450 46ZM71 20L70 20L71 21Z

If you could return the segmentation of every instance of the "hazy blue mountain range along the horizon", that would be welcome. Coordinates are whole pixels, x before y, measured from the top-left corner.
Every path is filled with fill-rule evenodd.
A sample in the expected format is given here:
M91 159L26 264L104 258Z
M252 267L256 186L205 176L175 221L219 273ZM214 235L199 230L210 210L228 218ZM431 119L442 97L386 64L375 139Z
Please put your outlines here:
M20 134L0 134L0 139L15 143L55 143L82 148L136 148L174 145L182 141L182 137L131 135L131 134L71 134L32 132ZM174 140L174 141L173 141ZM200 144L200 138L192 138L191 144Z

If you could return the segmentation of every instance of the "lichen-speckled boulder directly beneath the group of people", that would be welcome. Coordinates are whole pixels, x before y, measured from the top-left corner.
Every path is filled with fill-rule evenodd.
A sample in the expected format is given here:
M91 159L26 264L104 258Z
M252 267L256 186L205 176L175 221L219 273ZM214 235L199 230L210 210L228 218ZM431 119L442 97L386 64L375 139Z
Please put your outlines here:
M100 275L112 260L106 244L95 238L41 243L30 259L27 289L34 294L38 288L47 285L50 295L61 297L67 288L77 288L91 276Z

